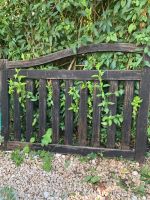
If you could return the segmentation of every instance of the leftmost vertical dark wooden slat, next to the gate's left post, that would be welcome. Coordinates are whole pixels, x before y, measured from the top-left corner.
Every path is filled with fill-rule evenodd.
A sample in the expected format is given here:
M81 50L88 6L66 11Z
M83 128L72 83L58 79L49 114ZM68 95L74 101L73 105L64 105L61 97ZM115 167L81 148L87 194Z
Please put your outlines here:
M19 94L14 91L14 136L15 140L21 140L21 120L20 120Z

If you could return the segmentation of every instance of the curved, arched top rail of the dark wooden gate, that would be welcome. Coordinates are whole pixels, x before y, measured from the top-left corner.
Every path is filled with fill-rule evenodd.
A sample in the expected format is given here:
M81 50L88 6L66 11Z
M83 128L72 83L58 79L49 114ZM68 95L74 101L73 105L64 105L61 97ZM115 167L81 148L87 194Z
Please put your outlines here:
M65 49L62 51L58 51L46 56L41 56L39 58L34 58L32 60L23 60L23 61L9 61L8 68L28 68L39 66L43 64L47 64L50 62L54 62L63 58L88 54L88 53L96 53L96 52L124 52L124 53L142 53L143 48L137 47L135 44L129 43L99 43L99 44L90 44L87 46L79 47L76 53L72 49Z

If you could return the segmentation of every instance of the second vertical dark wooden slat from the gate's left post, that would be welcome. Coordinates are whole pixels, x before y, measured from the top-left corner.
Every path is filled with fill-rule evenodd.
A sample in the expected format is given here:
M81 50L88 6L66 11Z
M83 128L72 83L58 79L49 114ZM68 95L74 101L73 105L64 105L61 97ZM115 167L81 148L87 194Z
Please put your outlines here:
M26 91L33 93L33 81L26 81ZM32 135L32 121L33 121L33 102L27 98L26 100L26 141L29 142Z

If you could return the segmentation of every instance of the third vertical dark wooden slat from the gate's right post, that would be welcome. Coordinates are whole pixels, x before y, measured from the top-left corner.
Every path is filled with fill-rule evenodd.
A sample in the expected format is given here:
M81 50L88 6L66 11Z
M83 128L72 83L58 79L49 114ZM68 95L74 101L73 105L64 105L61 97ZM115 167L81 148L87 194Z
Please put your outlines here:
M100 90L98 89L98 81L94 81L94 92L93 92L93 127L92 127L92 146L100 146Z

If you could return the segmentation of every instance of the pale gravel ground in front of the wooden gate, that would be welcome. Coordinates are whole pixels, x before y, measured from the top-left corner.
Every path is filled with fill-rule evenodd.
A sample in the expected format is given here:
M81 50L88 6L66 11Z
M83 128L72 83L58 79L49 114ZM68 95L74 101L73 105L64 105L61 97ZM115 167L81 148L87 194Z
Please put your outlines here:
M144 165L150 168L150 158L139 165L123 159L86 161L54 154L50 172L43 171L41 165L34 156L16 167L10 153L0 152L0 187L13 187L21 200L150 200L150 185L141 181L140 175ZM100 177L99 182L86 182L88 175Z

